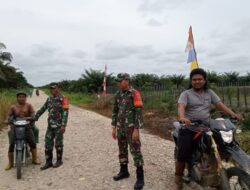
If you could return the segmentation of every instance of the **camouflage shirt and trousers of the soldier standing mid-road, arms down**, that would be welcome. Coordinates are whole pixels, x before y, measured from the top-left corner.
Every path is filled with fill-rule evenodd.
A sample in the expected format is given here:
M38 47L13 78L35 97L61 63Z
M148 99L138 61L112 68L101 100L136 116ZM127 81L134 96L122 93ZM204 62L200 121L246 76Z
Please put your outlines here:
M118 91L112 114L112 125L117 128L120 164L128 163L128 145L136 167L143 165L140 140L132 140L134 128L142 128L142 107L134 107L134 89Z

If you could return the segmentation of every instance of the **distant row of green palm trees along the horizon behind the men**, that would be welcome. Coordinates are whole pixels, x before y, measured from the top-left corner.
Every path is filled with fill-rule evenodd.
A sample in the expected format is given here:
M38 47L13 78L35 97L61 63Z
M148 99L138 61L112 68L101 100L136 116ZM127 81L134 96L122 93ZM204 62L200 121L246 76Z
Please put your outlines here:
M240 76L238 72L217 73L215 71L207 71L208 82L210 84L217 83L247 83L250 85L250 73ZM63 80L59 82L62 90L69 92L83 93L101 93L103 87L104 72L100 70L86 69L78 80ZM107 86L116 87L115 76L111 73L107 75ZM162 75L155 74L134 74L131 76L131 84L140 89L151 87L166 86L166 87L187 87L189 79L184 75ZM45 85L44 87L48 87Z

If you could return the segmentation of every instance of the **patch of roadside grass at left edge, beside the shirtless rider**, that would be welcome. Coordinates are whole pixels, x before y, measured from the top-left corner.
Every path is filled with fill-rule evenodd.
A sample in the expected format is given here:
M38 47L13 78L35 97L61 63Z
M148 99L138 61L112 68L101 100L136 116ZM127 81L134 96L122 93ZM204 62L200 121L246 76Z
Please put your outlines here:
M6 117L7 111L16 100L14 90L1 90L0 91L0 129L3 127L3 120Z

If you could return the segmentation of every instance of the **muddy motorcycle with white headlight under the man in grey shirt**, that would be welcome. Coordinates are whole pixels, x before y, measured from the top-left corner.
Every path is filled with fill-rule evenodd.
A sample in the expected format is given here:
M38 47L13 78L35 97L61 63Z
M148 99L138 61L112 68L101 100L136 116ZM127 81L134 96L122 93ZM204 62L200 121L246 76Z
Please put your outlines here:
M250 190L250 156L235 140L239 132L232 119L211 119L210 126L202 121L191 121L190 126L174 122L173 138L177 154L178 131L188 129L195 132L192 160L186 164L186 182L195 181L201 186L222 190Z

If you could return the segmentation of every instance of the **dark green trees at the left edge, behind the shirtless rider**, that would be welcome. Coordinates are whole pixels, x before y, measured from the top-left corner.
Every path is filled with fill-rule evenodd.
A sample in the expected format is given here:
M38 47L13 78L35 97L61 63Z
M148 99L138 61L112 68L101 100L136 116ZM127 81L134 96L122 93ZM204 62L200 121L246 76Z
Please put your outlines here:
M10 65L13 56L10 52L4 51L5 49L6 46L0 42L0 89L31 86L23 76L23 72Z

